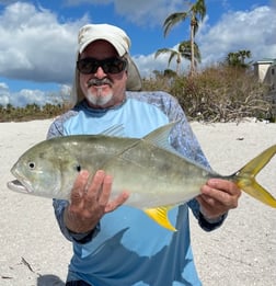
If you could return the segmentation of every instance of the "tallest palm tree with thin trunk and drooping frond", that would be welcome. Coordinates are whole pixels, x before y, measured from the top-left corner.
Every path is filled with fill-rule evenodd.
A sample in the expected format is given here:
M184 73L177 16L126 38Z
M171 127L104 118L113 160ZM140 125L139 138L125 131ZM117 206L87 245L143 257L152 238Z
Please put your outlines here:
M195 42L195 34L198 30L199 20L204 20L206 15L206 4L205 0L197 0L194 4L189 3L189 9L184 12L176 12L171 15L169 15L164 23L164 36L168 35L168 33L171 31L171 28L177 24L181 21L185 21L186 19L189 19L189 25L191 25L191 33L189 33L189 41L191 41L191 76L194 76L195 73L195 50L194 50L194 42Z

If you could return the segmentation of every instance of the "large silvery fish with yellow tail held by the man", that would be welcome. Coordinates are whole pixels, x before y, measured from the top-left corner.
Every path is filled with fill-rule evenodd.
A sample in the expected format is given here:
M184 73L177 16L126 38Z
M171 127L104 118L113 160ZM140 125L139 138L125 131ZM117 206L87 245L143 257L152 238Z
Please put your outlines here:
M88 170L91 176L97 170L104 170L114 178L112 197L129 190L126 205L141 209L172 231L176 229L170 222L168 211L199 195L200 186L210 178L232 181L252 197L276 208L275 197L255 180L276 153L276 145L233 174L220 175L185 158L169 144L175 124L161 126L142 138L106 133L44 140L19 158L11 169L16 180L8 182L8 187L70 201L72 185L81 170Z

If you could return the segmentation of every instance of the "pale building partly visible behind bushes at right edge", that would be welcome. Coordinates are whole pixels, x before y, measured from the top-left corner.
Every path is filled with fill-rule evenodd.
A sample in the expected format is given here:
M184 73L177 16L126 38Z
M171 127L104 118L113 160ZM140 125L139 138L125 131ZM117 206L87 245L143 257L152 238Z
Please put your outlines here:
M254 64L254 73L261 82L269 85L272 91L276 91L276 58L264 58Z

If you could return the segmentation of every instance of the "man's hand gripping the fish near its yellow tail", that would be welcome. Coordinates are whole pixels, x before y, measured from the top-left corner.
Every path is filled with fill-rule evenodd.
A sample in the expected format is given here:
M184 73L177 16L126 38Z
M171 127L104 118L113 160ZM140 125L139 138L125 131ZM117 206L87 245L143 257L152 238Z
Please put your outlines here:
M233 182L222 179L210 179L200 188L197 197L200 211L207 219L216 219L238 206L241 191Z

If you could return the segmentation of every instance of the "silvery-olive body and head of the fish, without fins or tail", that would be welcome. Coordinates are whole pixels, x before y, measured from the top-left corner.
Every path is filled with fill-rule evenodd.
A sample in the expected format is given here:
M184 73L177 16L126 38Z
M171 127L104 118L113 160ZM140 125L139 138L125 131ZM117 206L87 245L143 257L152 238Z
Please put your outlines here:
M80 170L114 176L113 195L130 191L138 208L184 203L199 193L207 169L145 139L77 135L45 140L25 152L11 172L30 194L68 199Z

